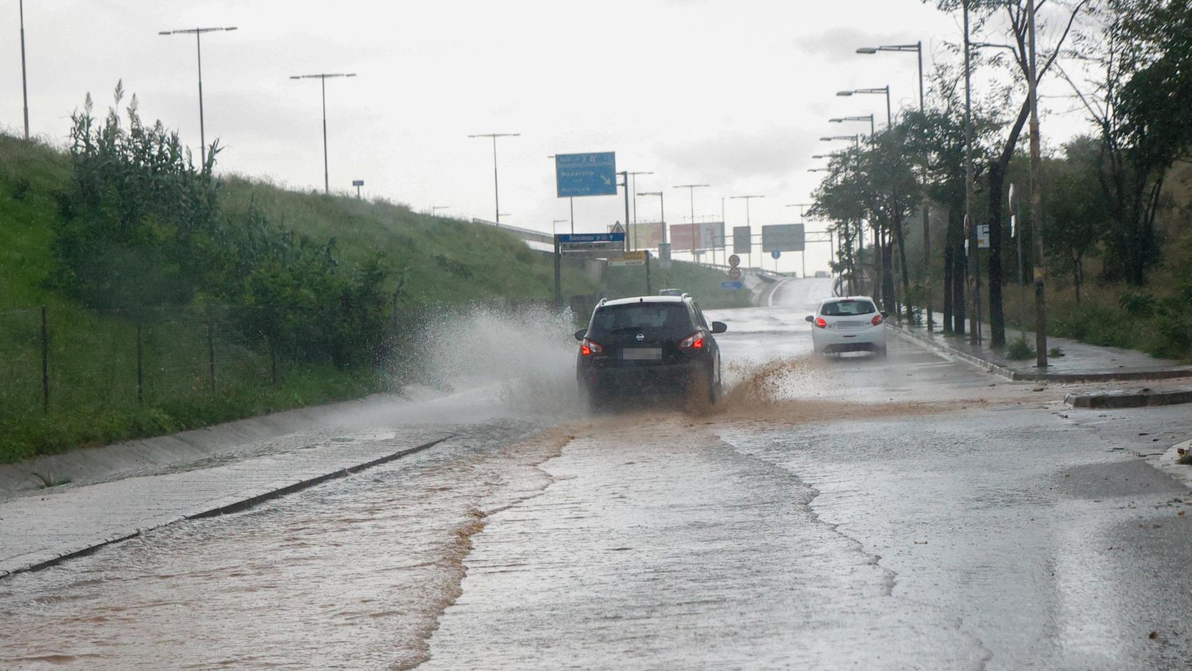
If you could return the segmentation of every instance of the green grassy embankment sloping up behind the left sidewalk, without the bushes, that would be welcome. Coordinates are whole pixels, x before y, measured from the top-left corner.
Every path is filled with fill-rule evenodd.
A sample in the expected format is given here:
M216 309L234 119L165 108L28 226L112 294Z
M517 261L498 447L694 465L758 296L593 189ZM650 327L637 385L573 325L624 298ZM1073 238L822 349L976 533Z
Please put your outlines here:
M138 400L135 321L124 313L81 307L46 284L54 263L58 194L69 186L72 170L66 154L0 135L0 462L392 387L385 372L329 364L279 362L273 384L267 348L222 328L235 315L194 307L164 313L143 329L143 399ZM404 277L399 322L427 305L553 297L550 256L492 226L432 218L402 205L285 191L237 176L224 180L224 212L242 213L250 204L316 241L335 236L344 263L384 251L393 269L387 288L396 288ZM714 297L709 304L725 298L715 271L676 266L672 273L683 277L693 293L707 291ZM621 286L633 271L641 272L610 271L610 287L604 292L642 291L631 291L628 281ZM564 269L565 294L601 291L581 271ZM50 400L44 410L42 305L49 327Z

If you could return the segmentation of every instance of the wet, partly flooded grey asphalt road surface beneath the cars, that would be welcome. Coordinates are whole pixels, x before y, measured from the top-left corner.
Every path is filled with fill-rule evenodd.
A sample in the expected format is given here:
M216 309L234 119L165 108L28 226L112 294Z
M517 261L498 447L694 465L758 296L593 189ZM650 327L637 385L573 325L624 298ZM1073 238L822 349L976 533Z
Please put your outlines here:
M1187 409L1075 411L896 340L814 360L826 291L709 315L710 415L484 414L0 582L0 667L1192 669L1192 492L1144 459Z

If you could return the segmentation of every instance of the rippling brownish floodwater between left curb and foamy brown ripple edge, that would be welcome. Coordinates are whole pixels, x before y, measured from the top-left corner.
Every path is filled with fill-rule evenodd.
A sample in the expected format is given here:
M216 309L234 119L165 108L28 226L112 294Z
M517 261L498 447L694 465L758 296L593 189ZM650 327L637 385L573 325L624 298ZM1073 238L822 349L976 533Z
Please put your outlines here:
M485 515L565 439L493 427L259 509L0 583L0 669L403 669Z

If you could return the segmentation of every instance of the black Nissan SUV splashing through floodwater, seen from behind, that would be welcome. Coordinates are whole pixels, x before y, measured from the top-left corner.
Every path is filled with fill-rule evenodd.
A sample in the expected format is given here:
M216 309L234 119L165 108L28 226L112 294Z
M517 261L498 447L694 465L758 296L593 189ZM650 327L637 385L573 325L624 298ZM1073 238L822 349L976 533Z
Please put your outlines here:
M602 299L581 342L576 379L592 408L633 391L678 391L715 402L720 394L720 347L690 296Z

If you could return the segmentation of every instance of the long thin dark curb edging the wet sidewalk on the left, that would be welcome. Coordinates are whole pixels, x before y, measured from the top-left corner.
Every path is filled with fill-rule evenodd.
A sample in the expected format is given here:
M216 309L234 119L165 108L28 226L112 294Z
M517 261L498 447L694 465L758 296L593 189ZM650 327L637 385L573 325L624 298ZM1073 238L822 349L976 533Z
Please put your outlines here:
M286 496L288 493L293 493L293 492L297 492L297 491L300 491L300 490L315 486L315 485L321 484L321 483L325 483L328 480L333 480L333 479L336 479L336 478L342 478L342 477L346 477L346 476L350 476L353 473L358 473L360 471L365 471L365 470L372 468L374 466L380 466L383 464L387 464L390 461L395 461L395 460L401 459L403 456L409 456L411 454L415 454L415 453L422 452L424 449L428 449L430 447L434 447L434 446L436 446L436 445L439 445L439 443L441 443L441 442L443 442L446 440L449 440L452 437L454 437L454 435L445 435L442 437L437 437L435 440L432 440L429 442L424 442L422 445L417 445L415 447L408 447L408 448L404 448L404 449L399 449L397 452L393 452L391 454L386 454L384 456L379 456L377 459L371 459L371 460L364 461L361 464L356 464L356 465L353 465L353 466L347 466L347 467L343 467L343 468L337 468L337 470L331 471L329 473L323 473L321 476L315 476L312 478L305 478L305 479L300 479L300 480L279 480L279 481L269 483L268 485L265 485L265 486L261 486L261 487L254 487L254 489L244 490L244 491L241 491L241 492L236 492L236 493L230 495L230 496L224 496L224 497L221 497L221 498L215 498L215 499L204 502L198 508L191 509L191 510L185 511L185 512L182 512L180 515L157 516L157 517L147 520L143 524L138 526L135 529L128 529L125 532L120 532L120 533L117 533L114 535L106 536L106 538L92 539L89 541L85 541L85 542L82 542L80 545L76 545L74 547L68 547L68 548L66 548L63 551L60 551L60 552L46 552L46 553L42 554L41 557L36 557L35 555L32 558L25 559L23 564L18 565L18 566L15 566L13 569L10 569L10 570L0 569L0 580L2 580L4 578L7 578L10 576L14 576L17 573L25 573L25 572L30 572L30 571L41 571L42 569L48 569L48 567L54 566L56 564L61 564L62 561L64 561L67 559L73 559L75 557L83 557L83 555L87 555L87 554L91 554L91 553L95 552L97 549L99 549L101 547L105 547L105 546L108 546L108 545L112 545L112 543L117 543L117 542L120 542L120 541L125 541L125 540L136 538L136 536L143 534L144 532L149 532L149 530L157 529L157 528L161 528L161 527L167 527L169 524L174 524L176 522L181 522L181 521L185 521L185 520L200 520L200 518L204 518L204 517L215 517L217 515L226 515L226 514L231 514L231 512L238 512L241 510L247 510L249 508L253 508L254 505L259 505L259 504L261 504L261 503L263 503L266 501L273 499L273 498L279 498L279 497Z

